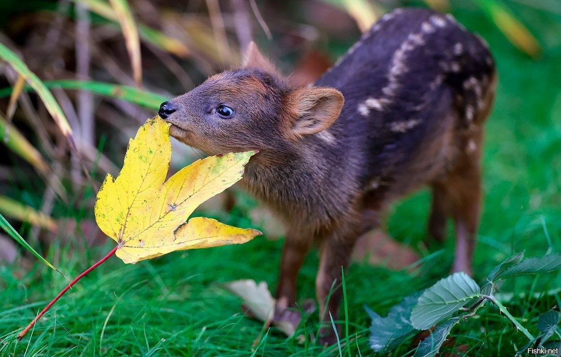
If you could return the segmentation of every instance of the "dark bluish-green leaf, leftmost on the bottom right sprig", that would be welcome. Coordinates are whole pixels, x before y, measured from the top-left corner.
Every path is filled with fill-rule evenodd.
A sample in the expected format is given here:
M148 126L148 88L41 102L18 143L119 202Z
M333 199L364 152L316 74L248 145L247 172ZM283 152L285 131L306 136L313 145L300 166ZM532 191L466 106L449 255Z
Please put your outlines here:
M374 352L390 351L412 335L415 331L411 324L411 309L421 292L404 298L401 303L392 306L386 317L381 317L366 306L366 312L372 319L370 326L370 347Z

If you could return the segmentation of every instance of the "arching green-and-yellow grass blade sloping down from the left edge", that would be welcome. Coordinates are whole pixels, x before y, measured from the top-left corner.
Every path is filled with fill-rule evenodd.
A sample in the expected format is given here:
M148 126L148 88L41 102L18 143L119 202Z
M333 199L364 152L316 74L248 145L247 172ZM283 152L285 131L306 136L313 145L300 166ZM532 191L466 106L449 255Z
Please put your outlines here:
M53 94L50 93L47 87L45 87L39 77L27 68L20 57L2 43L0 43L0 58L8 62L20 76L25 78L25 81L35 90L35 92L39 95L39 98L43 101L43 104L45 104L45 107L47 107L47 110L57 123L62 134L66 138L71 138L72 129L70 129L70 124L68 123L65 114L62 112L57 100L54 99Z

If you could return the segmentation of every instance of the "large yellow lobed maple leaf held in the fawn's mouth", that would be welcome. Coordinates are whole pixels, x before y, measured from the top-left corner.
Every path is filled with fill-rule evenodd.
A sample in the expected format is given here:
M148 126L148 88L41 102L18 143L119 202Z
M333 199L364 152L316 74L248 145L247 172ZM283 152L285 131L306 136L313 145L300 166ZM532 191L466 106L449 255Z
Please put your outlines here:
M165 181L171 159L169 123L146 121L131 139L121 173L105 177L95 202L95 221L117 242L125 263L175 250L239 244L261 232L215 219L186 219L195 208L239 181L254 151L198 160ZM164 182L165 181L165 182Z

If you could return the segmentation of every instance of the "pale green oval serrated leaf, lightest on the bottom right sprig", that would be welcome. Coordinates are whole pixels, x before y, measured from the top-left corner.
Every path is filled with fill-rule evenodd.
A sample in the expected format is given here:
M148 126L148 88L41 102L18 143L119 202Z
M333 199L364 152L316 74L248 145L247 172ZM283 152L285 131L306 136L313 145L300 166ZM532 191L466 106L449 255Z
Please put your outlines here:
M481 296L480 287L466 273L458 272L426 289L411 312L416 329L427 329Z

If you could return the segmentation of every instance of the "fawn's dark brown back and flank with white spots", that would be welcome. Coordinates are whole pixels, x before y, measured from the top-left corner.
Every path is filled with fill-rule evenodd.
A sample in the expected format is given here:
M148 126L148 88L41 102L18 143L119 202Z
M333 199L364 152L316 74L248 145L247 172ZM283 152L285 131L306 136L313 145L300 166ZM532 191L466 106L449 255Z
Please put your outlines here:
M343 93L329 134L362 163L360 184L376 188L444 170L456 134L480 126L493 74L482 40L451 16L411 8L383 16L316 85Z

